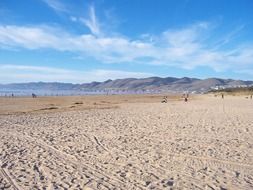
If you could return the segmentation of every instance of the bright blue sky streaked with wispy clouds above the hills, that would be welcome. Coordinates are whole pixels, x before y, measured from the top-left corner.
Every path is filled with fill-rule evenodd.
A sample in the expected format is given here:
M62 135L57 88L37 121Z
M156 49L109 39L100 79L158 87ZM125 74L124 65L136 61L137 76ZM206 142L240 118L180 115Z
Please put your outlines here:
M1 0L0 83L253 80L252 0Z

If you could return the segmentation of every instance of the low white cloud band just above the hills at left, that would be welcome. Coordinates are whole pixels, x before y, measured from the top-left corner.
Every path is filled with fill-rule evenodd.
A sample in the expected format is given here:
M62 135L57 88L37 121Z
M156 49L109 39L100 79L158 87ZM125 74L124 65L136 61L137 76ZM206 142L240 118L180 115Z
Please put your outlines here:
M85 83L108 79L143 78L151 73L127 72L121 70L67 70L53 67L28 65L0 65L0 83L19 82L72 82Z

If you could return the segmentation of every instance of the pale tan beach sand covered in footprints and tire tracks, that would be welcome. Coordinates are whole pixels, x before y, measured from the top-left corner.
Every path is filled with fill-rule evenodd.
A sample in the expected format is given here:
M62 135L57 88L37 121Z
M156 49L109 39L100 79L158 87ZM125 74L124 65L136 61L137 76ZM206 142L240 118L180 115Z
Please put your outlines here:
M253 189L253 100L161 100L1 98L0 189Z

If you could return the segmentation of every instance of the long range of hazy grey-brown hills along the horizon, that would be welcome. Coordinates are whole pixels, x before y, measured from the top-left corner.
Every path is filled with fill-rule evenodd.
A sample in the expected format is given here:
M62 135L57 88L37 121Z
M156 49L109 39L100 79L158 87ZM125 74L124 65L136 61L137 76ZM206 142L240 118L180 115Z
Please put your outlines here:
M253 85L253 81L242 81L220 78L175 78L175 77L149 77L126 78L107 80L104 82L91 82L83 84L59 83L59 82L31 82L0 84L1 91L34 90L34 91L99 91L99 92L207 92L212 89L224 89L234 87L247 87Z

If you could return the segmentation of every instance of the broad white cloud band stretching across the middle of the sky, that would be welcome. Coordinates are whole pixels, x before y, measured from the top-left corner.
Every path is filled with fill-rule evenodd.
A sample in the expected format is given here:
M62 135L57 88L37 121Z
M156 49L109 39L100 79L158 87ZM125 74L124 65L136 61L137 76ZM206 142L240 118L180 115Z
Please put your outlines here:
M245 70L253 65L253 44L238 44L230 49L220 49L215 43L215 48L210 47L206 37L206 33L210 34L209 23L202 22L181 29L167 30L157 36L145 34L132 40L122 36L97 35L101 31L96 29L93 8L90 14L92 34L73 35L45 26L0 25L0 47L51 48L75 52L78 57L92 56L103 63L163 64L184 69L207 66L215 71ZM152 40L147 40L151 37ZM229 43L230 38L220 42Z

